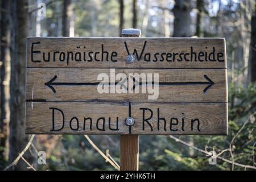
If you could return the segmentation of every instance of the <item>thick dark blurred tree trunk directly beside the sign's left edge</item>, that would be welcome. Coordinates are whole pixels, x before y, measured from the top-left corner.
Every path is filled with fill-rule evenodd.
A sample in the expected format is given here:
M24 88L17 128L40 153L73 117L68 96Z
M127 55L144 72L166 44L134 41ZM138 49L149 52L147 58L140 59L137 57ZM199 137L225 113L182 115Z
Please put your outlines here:
M26 37L29 19L27 7L27 0L11 1L10 163L28 143L28 135L25 135ZM28 152L23 156L30 164L35 161ZM27 164L19 160L12 169L26 170Z

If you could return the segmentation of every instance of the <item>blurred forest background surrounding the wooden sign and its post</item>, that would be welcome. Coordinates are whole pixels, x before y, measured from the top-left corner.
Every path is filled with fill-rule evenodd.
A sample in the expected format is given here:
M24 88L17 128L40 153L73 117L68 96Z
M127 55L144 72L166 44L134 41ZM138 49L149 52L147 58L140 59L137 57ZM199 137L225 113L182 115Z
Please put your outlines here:
M228 66L229 135L140 136L139 169L256 170L255 0L0 0L0 5L0 169L119 169L118 135L24 134L26 37L117 37L132 27L142 37L225 38ZM46 165L38 163L39 151L46 152ZM212 154L216 164L209 164Z

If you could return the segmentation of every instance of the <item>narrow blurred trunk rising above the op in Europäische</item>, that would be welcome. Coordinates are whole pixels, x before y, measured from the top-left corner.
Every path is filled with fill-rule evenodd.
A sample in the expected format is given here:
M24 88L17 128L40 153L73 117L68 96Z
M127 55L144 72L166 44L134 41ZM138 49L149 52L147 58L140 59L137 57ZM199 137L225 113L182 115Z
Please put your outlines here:
M71 0L63 1L63 16L62 16L62 34L63 36L69 36L69 28L71 23L71 16L73 7L71 5Z

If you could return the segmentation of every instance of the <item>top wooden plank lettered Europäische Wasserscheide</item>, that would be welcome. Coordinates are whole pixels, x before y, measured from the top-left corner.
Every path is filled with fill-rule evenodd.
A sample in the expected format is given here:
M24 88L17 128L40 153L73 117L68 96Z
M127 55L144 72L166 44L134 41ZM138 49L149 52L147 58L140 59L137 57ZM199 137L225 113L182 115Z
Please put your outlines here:
M138 59L127 64L134 49ZM226 68L225 39L27 38L27 67Z

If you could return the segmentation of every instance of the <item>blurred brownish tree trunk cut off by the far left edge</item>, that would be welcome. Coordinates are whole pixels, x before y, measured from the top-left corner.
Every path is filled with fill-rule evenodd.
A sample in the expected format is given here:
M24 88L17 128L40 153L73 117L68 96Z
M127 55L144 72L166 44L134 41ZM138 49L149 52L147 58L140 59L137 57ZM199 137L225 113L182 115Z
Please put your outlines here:
M8 155L7 137L9 133L9 81L10 81L10 1L1 2L1 57L0 57L0 161L3 162Z

